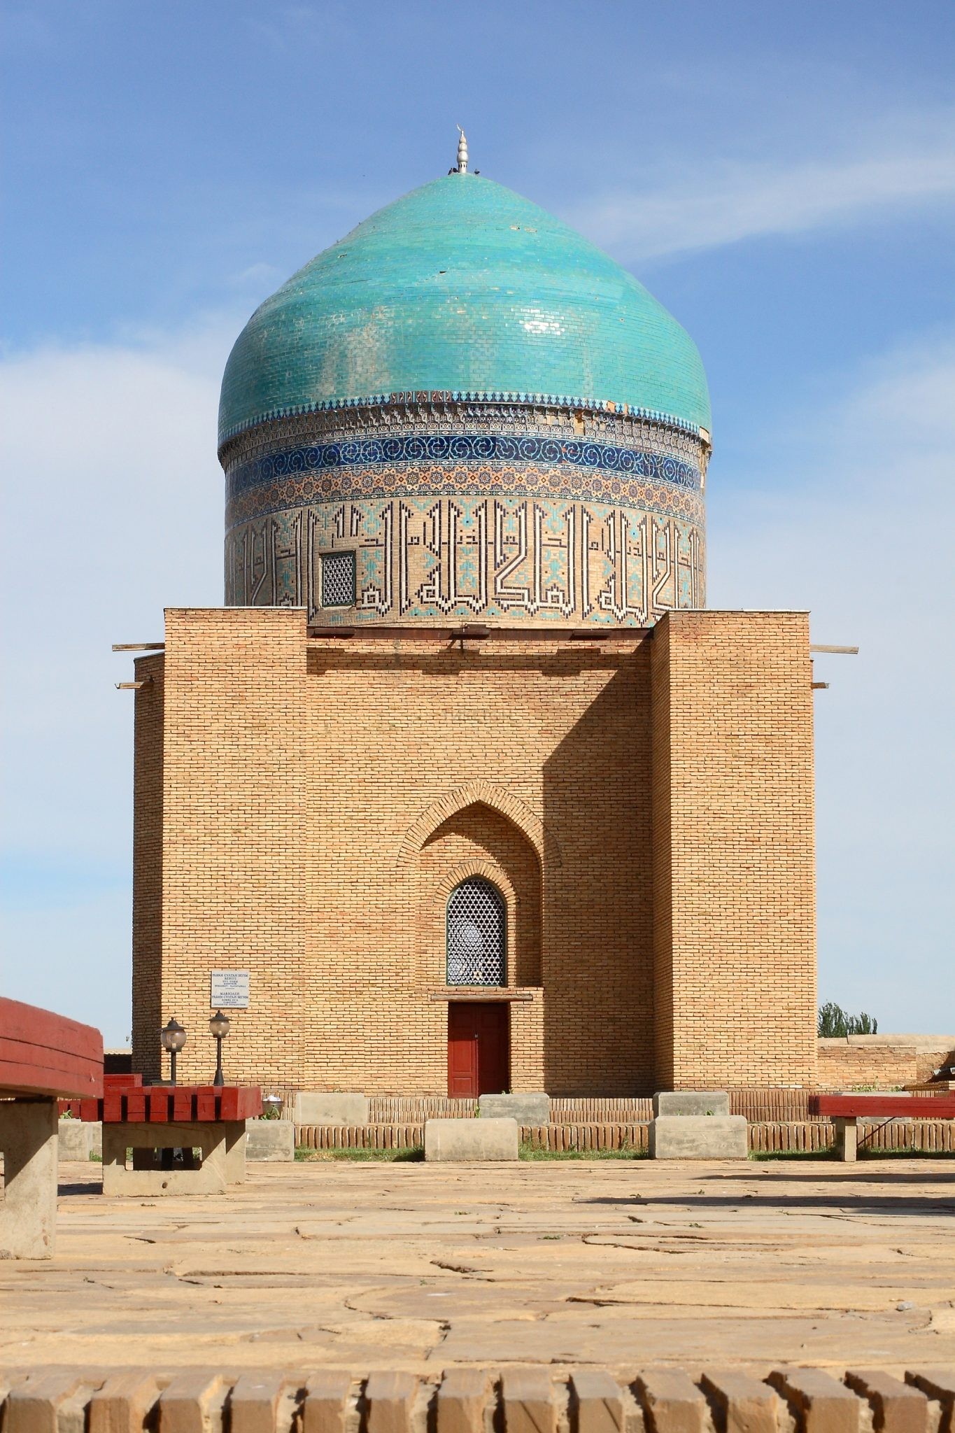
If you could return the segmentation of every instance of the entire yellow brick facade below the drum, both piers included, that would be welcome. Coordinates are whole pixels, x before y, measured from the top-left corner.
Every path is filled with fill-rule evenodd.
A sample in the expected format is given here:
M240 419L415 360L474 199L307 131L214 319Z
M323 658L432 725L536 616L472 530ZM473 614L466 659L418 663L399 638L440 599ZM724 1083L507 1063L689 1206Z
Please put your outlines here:
M594 641L309 638L172 609L137 662L133 1058L251 972L232 1079L447 1093L444 913L507 903L510 1085L815 1082L806 618L670 613Z

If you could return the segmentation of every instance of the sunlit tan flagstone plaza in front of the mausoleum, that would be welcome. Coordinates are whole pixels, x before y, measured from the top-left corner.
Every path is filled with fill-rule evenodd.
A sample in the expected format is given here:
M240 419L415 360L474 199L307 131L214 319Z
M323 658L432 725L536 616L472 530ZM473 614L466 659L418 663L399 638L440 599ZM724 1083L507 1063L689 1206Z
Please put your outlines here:
M0 1364L955 1361L955 1159L252 1165L206 1198L60 1166Z

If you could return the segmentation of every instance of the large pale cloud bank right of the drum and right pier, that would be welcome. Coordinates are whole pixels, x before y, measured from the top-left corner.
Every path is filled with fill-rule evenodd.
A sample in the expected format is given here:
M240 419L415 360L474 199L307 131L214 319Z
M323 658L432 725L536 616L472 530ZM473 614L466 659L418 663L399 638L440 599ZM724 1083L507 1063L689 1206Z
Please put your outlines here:
M707 484L713 606L809 608L816 642L820 999L955 1030L955 342L872 364L753 434Z

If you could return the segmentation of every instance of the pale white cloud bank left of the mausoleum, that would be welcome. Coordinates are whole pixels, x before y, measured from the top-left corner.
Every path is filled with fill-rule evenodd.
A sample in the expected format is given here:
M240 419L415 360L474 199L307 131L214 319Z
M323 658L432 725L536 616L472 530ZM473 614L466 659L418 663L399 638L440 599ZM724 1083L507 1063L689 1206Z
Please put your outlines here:
M86 983L112 1040L129 1032L133 706L110 643L162 638L163 605L222 600L216 406L239 327L0 364L3 835L19 887L3 984L83 1017Z

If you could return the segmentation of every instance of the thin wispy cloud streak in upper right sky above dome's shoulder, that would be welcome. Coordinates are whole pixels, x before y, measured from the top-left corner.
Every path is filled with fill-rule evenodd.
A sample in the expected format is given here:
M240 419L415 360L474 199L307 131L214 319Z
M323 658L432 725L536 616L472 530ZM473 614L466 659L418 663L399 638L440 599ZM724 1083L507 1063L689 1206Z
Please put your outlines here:
M682 165L661 186L616 189L574 222L626 262L795 235L955 198L955 125L946 112L865 153Z

